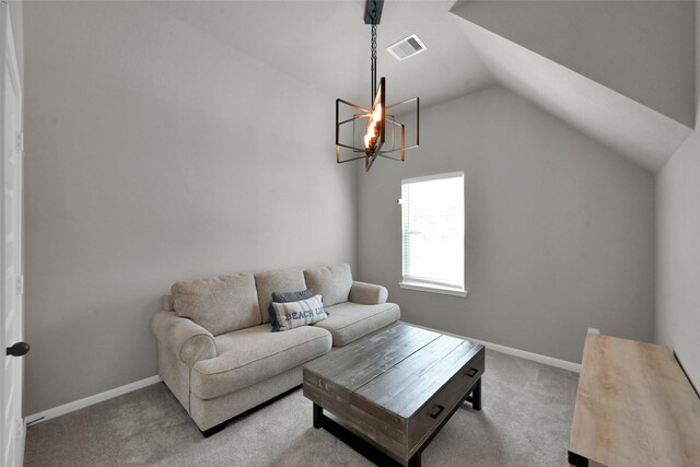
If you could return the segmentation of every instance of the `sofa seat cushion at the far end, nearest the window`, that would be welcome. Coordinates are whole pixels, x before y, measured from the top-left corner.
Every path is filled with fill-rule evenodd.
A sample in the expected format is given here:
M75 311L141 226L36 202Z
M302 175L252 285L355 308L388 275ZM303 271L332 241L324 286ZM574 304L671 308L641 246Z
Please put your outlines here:
M376 329L388 326L401 317L396 303L360 305L353 302L328 306L328 317L314 327L328 329L334 347L342 347Z

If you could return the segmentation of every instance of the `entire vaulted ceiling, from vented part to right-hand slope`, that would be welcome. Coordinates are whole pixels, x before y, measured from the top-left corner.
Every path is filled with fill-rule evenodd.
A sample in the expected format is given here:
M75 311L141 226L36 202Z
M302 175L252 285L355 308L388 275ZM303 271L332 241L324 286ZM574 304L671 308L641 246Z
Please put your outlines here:
M151 7L369 105L363 0ZM413 33L428 50L396 61L385 48ZM498 83L652 173L696 125L695 1L386 0L377 55L388 102L419 95L435 105Z

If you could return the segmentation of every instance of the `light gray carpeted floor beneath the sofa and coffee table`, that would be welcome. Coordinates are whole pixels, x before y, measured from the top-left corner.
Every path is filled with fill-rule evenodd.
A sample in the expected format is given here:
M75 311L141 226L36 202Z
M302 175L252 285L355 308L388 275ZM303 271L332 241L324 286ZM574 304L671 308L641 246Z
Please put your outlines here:
M567 466L579 375L488 351L482 410L465 404L425 467ZM162 383L30 427L26 466L371 466L312 427L301 389L201 436Z

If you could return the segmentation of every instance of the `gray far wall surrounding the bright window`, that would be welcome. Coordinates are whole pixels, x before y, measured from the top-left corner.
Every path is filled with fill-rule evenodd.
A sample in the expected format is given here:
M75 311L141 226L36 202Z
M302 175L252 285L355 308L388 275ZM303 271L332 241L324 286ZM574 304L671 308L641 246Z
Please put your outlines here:
M466 297L401 290L401 178L465 172ZM359 182L358 261L402 319L579 362L587 327L650 340L652 175L502 89L421 113L408 162Z

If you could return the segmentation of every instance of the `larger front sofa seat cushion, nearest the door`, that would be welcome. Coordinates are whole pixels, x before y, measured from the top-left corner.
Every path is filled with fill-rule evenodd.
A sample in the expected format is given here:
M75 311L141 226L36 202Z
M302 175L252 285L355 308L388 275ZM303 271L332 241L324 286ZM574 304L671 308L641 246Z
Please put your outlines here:
M332 346L330 334L313 326L270 332L266 324L214 339L217 357L198 362L191 371L191 393L205 400L283 373L323 355Z

